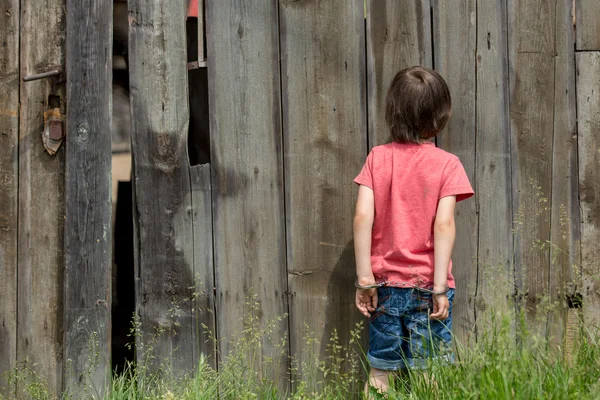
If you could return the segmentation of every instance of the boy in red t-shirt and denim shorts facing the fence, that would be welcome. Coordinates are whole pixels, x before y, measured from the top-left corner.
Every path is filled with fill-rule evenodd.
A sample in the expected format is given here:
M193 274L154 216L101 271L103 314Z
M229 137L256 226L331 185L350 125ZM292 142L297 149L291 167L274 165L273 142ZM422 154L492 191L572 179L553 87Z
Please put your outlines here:
M454 207L473 195L459 159L428 141L450 118L444 79L404 69L386 102L392 142L373 148L354 180L356 306L370 319L367 387L383 392L393 371L453 361Z

